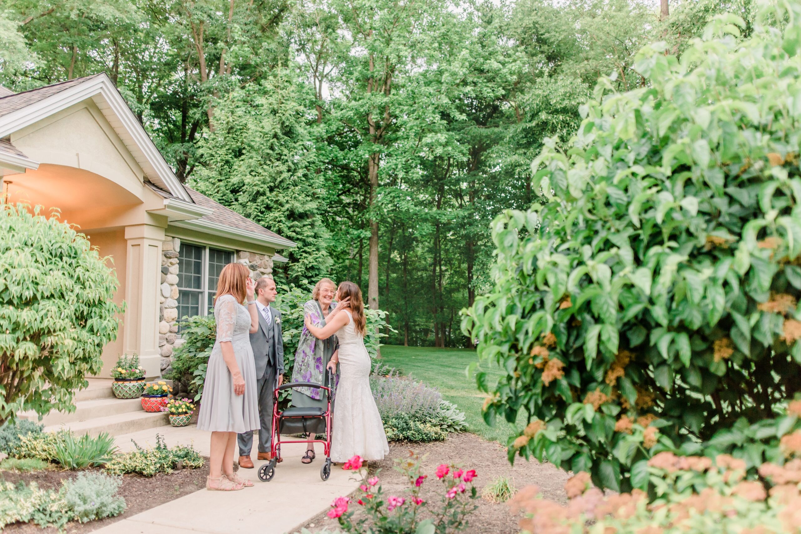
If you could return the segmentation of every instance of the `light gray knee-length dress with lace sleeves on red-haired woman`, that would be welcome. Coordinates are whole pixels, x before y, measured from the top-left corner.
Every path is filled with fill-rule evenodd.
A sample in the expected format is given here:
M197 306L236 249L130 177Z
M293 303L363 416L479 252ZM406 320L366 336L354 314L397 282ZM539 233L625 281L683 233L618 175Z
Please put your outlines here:
M215 302L214 318L217 340L208 357L198 429L238 434L257 430L260 427L259 404L256 400L256 365L250 345L250 313L233 295L223 295ZM236 364L245 381L244 395L234 393L231 372L223 361L223 350L219 346L222 341L233 344Z

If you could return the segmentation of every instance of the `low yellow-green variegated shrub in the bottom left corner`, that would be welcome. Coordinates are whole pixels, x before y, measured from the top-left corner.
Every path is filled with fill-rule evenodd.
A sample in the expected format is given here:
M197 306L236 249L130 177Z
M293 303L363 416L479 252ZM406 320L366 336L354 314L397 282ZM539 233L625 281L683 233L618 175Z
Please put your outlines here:
M35 482L26 486L0 480L0 530L7 524L29 521L42 528L62 528L69 520L66 503L58 492L39 488Z

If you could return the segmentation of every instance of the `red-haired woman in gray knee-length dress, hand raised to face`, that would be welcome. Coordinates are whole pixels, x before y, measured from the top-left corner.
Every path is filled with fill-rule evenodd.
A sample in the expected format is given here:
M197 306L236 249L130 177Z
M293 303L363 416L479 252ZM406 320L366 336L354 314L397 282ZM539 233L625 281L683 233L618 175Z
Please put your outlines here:
M211 431L206 489L214 491L253 485L234 473L236 435L260 428L256 364L249 336L259 328L259 318L253 298L255 283L249 275L244 265L229 263L217 281L217 339L208 357L198 415L198 429Z

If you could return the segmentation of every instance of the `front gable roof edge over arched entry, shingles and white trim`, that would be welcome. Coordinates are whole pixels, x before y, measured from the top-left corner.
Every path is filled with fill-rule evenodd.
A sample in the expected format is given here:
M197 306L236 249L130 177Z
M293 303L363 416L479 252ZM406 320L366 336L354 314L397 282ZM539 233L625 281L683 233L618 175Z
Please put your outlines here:
M175 197L191 197L106 73L55 83L0 98L0 138L91 98L148 180Z

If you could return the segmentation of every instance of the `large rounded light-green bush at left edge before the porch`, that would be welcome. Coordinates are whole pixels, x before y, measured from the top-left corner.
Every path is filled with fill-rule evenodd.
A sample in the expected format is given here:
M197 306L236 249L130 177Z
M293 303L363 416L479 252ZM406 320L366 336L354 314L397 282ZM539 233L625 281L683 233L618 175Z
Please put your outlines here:
M87 237L39 215L0 209L0 422L14 413L74 410L117 337L117 278Z

